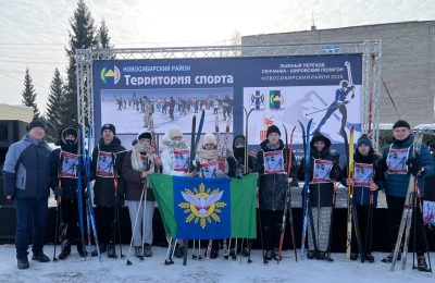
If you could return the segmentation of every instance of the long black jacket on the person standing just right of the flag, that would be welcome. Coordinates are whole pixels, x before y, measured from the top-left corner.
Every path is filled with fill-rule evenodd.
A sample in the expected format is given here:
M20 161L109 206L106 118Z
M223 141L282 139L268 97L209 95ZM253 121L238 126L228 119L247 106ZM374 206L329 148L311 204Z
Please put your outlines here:
M260 209L283 210L285 195L288 186L287 174L264 174L264 152L282 150L284 151L284 156L286 156L287 150L285 150L284 143L281 139L279 145L276 149L272 149L269 146L268 139L260 144L260 148L261 150L259 150L257 153L257 162L254 169L254 171L257 171L260 175ZM287 165L285 164L284 168L287 168Z

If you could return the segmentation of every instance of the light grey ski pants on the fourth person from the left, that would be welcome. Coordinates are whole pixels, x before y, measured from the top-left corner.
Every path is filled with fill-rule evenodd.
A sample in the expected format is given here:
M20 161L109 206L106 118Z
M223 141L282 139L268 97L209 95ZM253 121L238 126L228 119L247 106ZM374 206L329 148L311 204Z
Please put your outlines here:
M136 230L133 234L133 245L135 247L141 246L142 244L152 245L152 217L154 214L154 201L145 201L145 216L144 216L144 201L139 207L139 200L126 200L125 201L128 207L129 221L132 223L132 234L135 230L135 221L136 214L139 210L139 214L137 214ZM144 219L145 217L145 219ZM142 227L142 223L145 227ZM142 229L144 235L142 235Z

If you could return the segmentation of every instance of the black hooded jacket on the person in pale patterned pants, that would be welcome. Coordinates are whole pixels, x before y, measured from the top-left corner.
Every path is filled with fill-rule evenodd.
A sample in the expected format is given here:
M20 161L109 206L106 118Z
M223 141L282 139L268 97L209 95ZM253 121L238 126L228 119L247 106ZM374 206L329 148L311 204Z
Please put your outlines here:
M314 147L314 143L323 142L325 147L322 151L318 151ZM316 134L312 137L310 142L310 182L313 179L313 168L314 168L314 159L322 159L333 161L333 168L331 169L330 177L331 180L340 181L341 180L341 170L338 164L338 155L331 153L330 151L331 140L322 134ZM298 177L300 181L304 181L304 158L300 161L298 169ZM331 207L333 205L333 193L334 193L334 184L333 183L322 183L322 184L310 184L310 201L312 207ZM303 189L302 189L303 196ZM319 204L320 199L320 204Z

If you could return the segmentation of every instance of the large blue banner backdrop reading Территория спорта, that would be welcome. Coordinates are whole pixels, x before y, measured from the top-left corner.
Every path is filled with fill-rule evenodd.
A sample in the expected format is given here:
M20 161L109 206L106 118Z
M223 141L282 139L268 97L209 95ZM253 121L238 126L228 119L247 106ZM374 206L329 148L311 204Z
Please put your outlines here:
M262 142L271 124L282 128L285 123L289 128L310 119L312 130L333 144L343 144L341 135L351 125L356 138L361 133L361 54L96 60L92 64L96 133L102 123L112 123L125 145L148 127L152 113L158 134L172 125L190 133L191 118L199 118L201 110L206 110L203 133L214 132L215 115L222 133L234 114L231 132L241 134L243 107L256 109L249 120L250 145ZM295 144L301 143L297 127Z

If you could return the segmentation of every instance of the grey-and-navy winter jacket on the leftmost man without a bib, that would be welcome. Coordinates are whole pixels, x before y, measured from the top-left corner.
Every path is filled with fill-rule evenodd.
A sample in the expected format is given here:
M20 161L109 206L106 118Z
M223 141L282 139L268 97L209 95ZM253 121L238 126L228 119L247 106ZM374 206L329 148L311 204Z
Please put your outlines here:
M45 140L25 135L9 147L3 165L7 196L45 199L50 195L50 153Z

